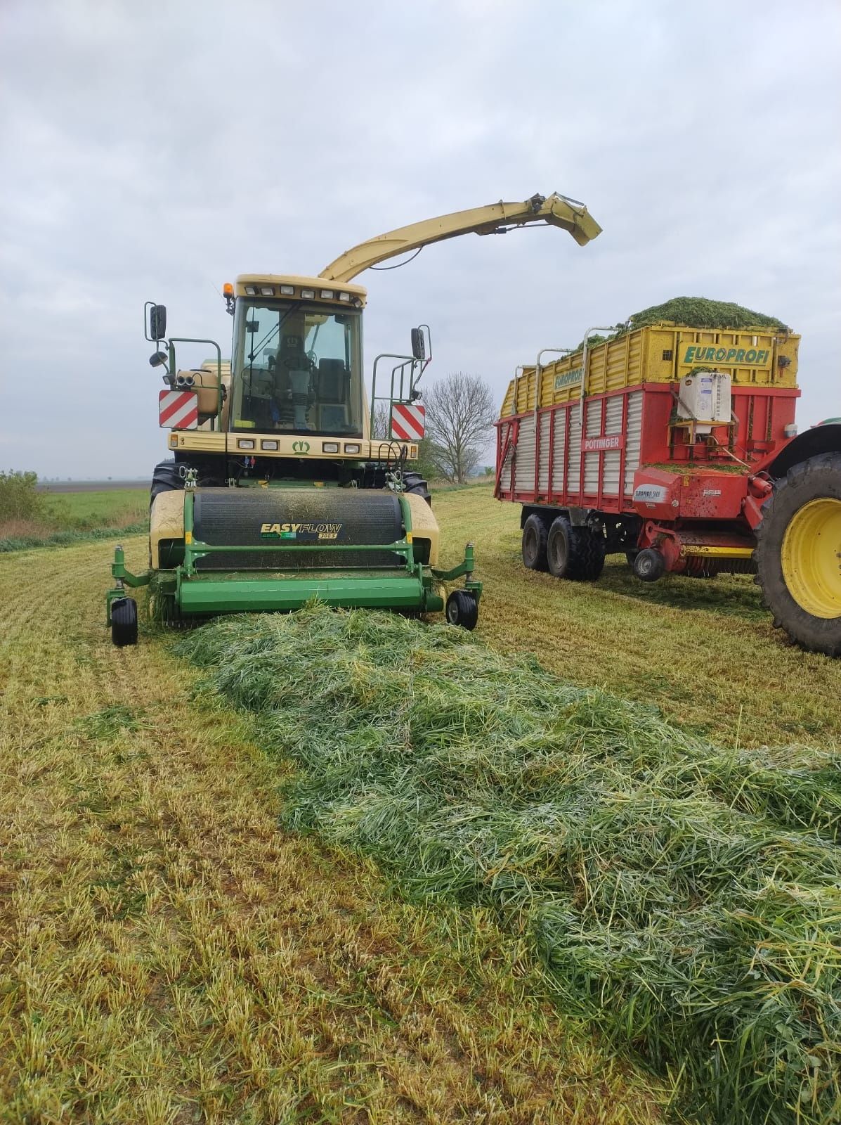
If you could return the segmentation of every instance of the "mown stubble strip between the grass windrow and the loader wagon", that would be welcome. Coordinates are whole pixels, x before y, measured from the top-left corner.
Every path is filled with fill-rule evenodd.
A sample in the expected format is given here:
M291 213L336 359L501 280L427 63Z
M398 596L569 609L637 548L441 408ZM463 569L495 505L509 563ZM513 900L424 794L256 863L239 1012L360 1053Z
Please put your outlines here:
M614 555L599 582L559 582L523 566L519 505L496 502L485 485L434 504L447 560L464 540L477 543L478 629L497 648L653 703L723 746L841 745L841 662L788 645L749 575L646 585Z

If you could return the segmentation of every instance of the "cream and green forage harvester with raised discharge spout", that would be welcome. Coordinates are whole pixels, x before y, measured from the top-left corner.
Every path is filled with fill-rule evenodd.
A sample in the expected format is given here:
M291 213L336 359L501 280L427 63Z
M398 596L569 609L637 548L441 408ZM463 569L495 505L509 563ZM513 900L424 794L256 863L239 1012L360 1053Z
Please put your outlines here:
M455 566L440 568L427 483L413 468L424 436L418 382L432 359L429 328L413 328L409 354L376 358L369 405L367 292L353 278L443 238L534 224L567 230L580 245L600 230L581 204L533 196L379 235L318 277L243 274L224 289L230 361L216 341L168 336L165 307L147 302L171 459L152 479L150 570L133 574L121 548L115 552L107 594L114 642L136 641L137 606L127 591L144 585L156 615L180 626L313 600L429 613L445 608L442 586L463 578L449 594L446 619L472 629L481 595L472 544ZM181 370L182 344L214 356Z

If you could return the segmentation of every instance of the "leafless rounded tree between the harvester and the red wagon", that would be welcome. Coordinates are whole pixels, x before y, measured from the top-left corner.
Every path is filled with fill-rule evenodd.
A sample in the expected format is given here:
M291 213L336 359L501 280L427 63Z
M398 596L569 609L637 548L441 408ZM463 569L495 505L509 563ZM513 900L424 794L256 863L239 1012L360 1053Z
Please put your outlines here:
M426 434L438 470L463 484L482 460L497 416L494 393L479 375L451 372L424 394Z

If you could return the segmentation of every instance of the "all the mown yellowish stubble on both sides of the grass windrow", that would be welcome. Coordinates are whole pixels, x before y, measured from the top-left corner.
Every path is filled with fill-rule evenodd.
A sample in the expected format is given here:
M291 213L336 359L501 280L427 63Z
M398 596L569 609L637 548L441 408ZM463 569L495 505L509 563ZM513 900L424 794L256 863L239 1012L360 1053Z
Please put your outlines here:
M749 580L642 587L612 559L560 584L487 487L435 507L453 557L477 544L494 647L723 747L838 746L841 668L786 647ZM289 767L166 638L110 647L107 570L102 543L0 559L6 1119L658 1119L662 1086L582 1037L490 914L406 904L281 831Z

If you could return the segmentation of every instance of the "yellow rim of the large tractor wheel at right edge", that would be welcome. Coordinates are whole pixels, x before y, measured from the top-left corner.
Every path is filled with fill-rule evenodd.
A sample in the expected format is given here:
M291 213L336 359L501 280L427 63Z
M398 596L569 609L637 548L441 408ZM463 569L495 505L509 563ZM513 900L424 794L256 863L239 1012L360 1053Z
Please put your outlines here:
M783 577L813 618L841 618L841 500L810 501L783 538Z

